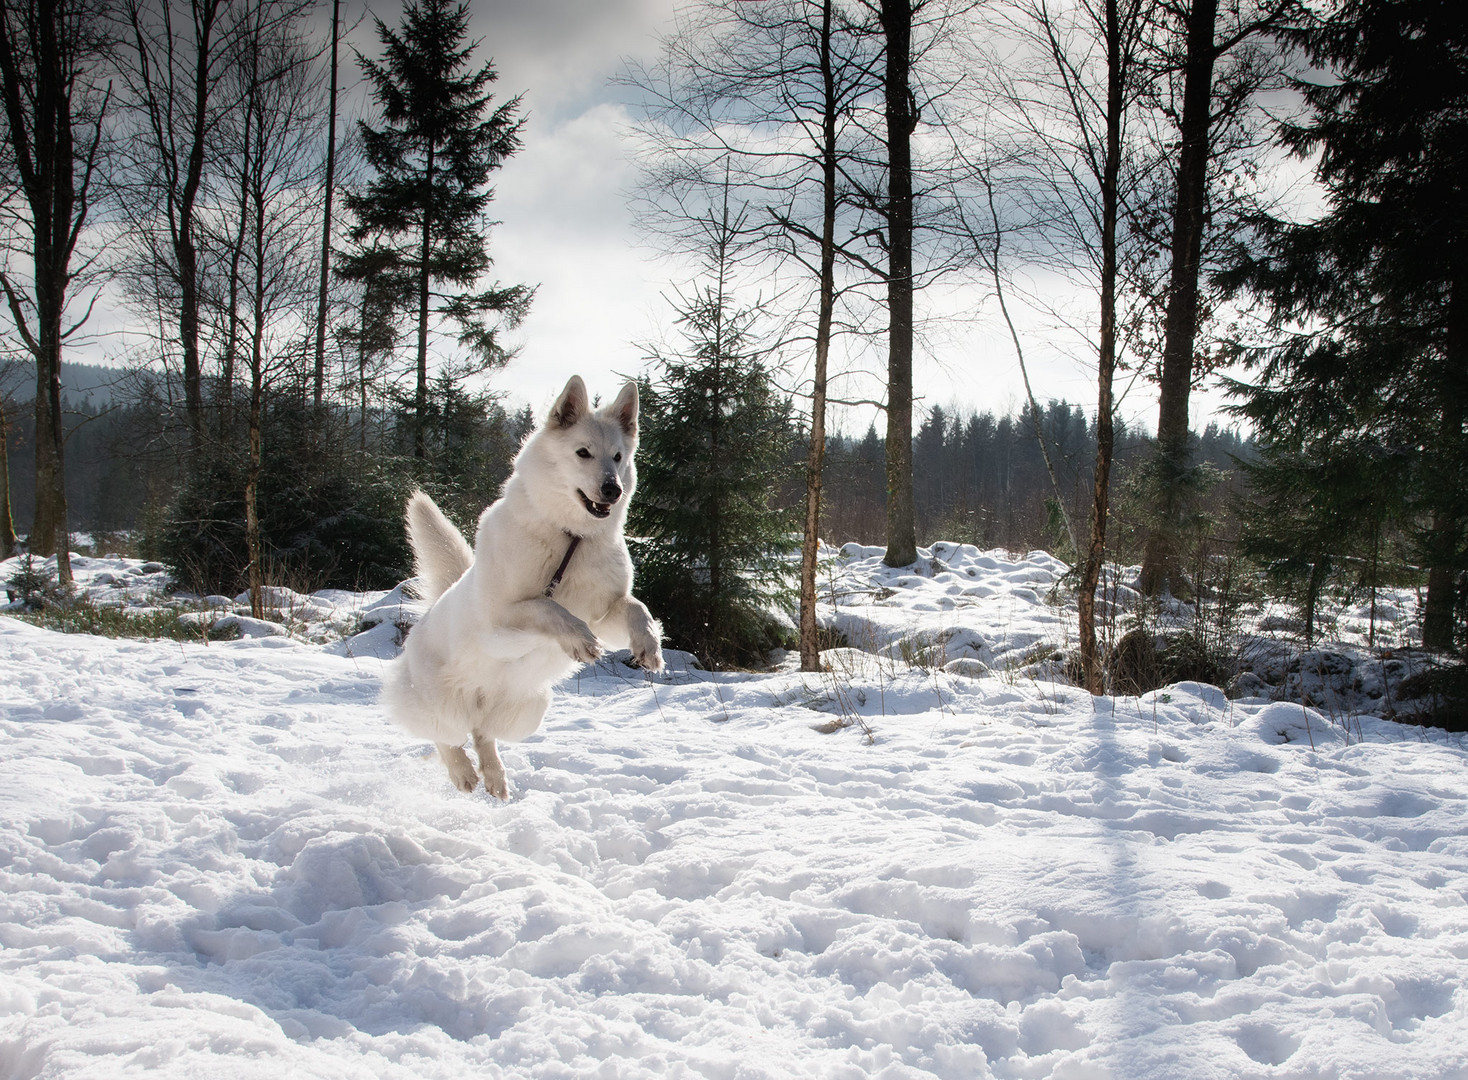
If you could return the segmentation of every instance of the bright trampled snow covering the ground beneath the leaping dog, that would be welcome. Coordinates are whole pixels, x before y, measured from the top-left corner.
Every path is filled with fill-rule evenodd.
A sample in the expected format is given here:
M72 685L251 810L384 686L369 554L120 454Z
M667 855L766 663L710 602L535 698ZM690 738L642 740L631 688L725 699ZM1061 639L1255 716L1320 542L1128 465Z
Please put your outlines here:
M603 660L506 804L376 710L395 594L0 618L0 1077L1468 1077L1461 737L1092 698L1050 556L846 556L829 674Z

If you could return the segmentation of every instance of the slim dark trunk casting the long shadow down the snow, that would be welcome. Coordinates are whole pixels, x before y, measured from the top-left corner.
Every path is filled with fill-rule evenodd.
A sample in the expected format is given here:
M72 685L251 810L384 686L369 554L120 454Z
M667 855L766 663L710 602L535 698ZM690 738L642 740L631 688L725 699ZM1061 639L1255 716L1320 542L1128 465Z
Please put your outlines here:
M1105 561L1105 527L1111 496L1111 382L1116 376L1116 219L1119 180L1122 172L1122 26L1117 0L1105 4L1107 37L1107 95L1105 95L1105 161L1101 166L1101 340L1097 357L1097 465L1095 490L1091 502L1091 540L1080 572L1080 669L1086 690L1105 693L1097 647L1097 585Z

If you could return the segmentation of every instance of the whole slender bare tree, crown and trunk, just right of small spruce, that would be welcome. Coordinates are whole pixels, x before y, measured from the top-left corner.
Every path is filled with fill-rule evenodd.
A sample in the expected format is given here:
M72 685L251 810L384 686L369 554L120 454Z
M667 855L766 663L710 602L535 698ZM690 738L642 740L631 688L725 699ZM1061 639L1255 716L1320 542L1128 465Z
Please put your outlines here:
M815 609L821 483L831 345L846 288L837 230L850 210L849 178L863 138L853 114L879 85L875 62L871 35L835 0L721 0L683 22L664 43L656 68L631 76L650 101L643 123L649 147L644 223L684 251L702 252L708 210L721 185L724 198L737 189L756 213L738 219L740 227L725 238L727 271L744 260L760 270L793 270L809 283L809 289L791 291L799 298L793 318L806 327L812 355L800 572L803 671L821 666ZM780 134L771 138L771 129Z

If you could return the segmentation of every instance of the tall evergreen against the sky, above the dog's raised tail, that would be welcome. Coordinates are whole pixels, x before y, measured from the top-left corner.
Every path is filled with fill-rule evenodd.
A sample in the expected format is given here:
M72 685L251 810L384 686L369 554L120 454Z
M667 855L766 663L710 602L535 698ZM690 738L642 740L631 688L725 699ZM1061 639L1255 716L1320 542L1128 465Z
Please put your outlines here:
M468 4L408 0L399 29L380 19L380 62L358 54L382 126L361 122L363 154L374 176L345 197L357 245L342 263L348 279L390 279L379 295L411 296L417 318L414 453L426 453L430 324L446 318L477 370L504 364L502 326L524 317L533 289L479 289L490 267L489 176L520 148L520 98L490 109L493 63L470 70ZM385 254L388 258L385 260ZM493 317L493 323L490 318Z

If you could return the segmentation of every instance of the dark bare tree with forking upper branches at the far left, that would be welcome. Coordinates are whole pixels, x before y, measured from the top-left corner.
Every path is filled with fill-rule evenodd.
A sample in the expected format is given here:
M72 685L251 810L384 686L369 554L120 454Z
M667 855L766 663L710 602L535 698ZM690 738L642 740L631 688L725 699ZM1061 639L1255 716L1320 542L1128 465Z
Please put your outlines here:
M31 280L0 273L10 315L35 360L35 521L31 550L56 555L72 580L66 525L62 349L85 321L63 327L72 260L95 207L94 180L112 87L100 60L107 10L87 0L0 0L4 158L21 179ZM95 302L95 298L94 301ZM88 308L90 313L90 308Z

